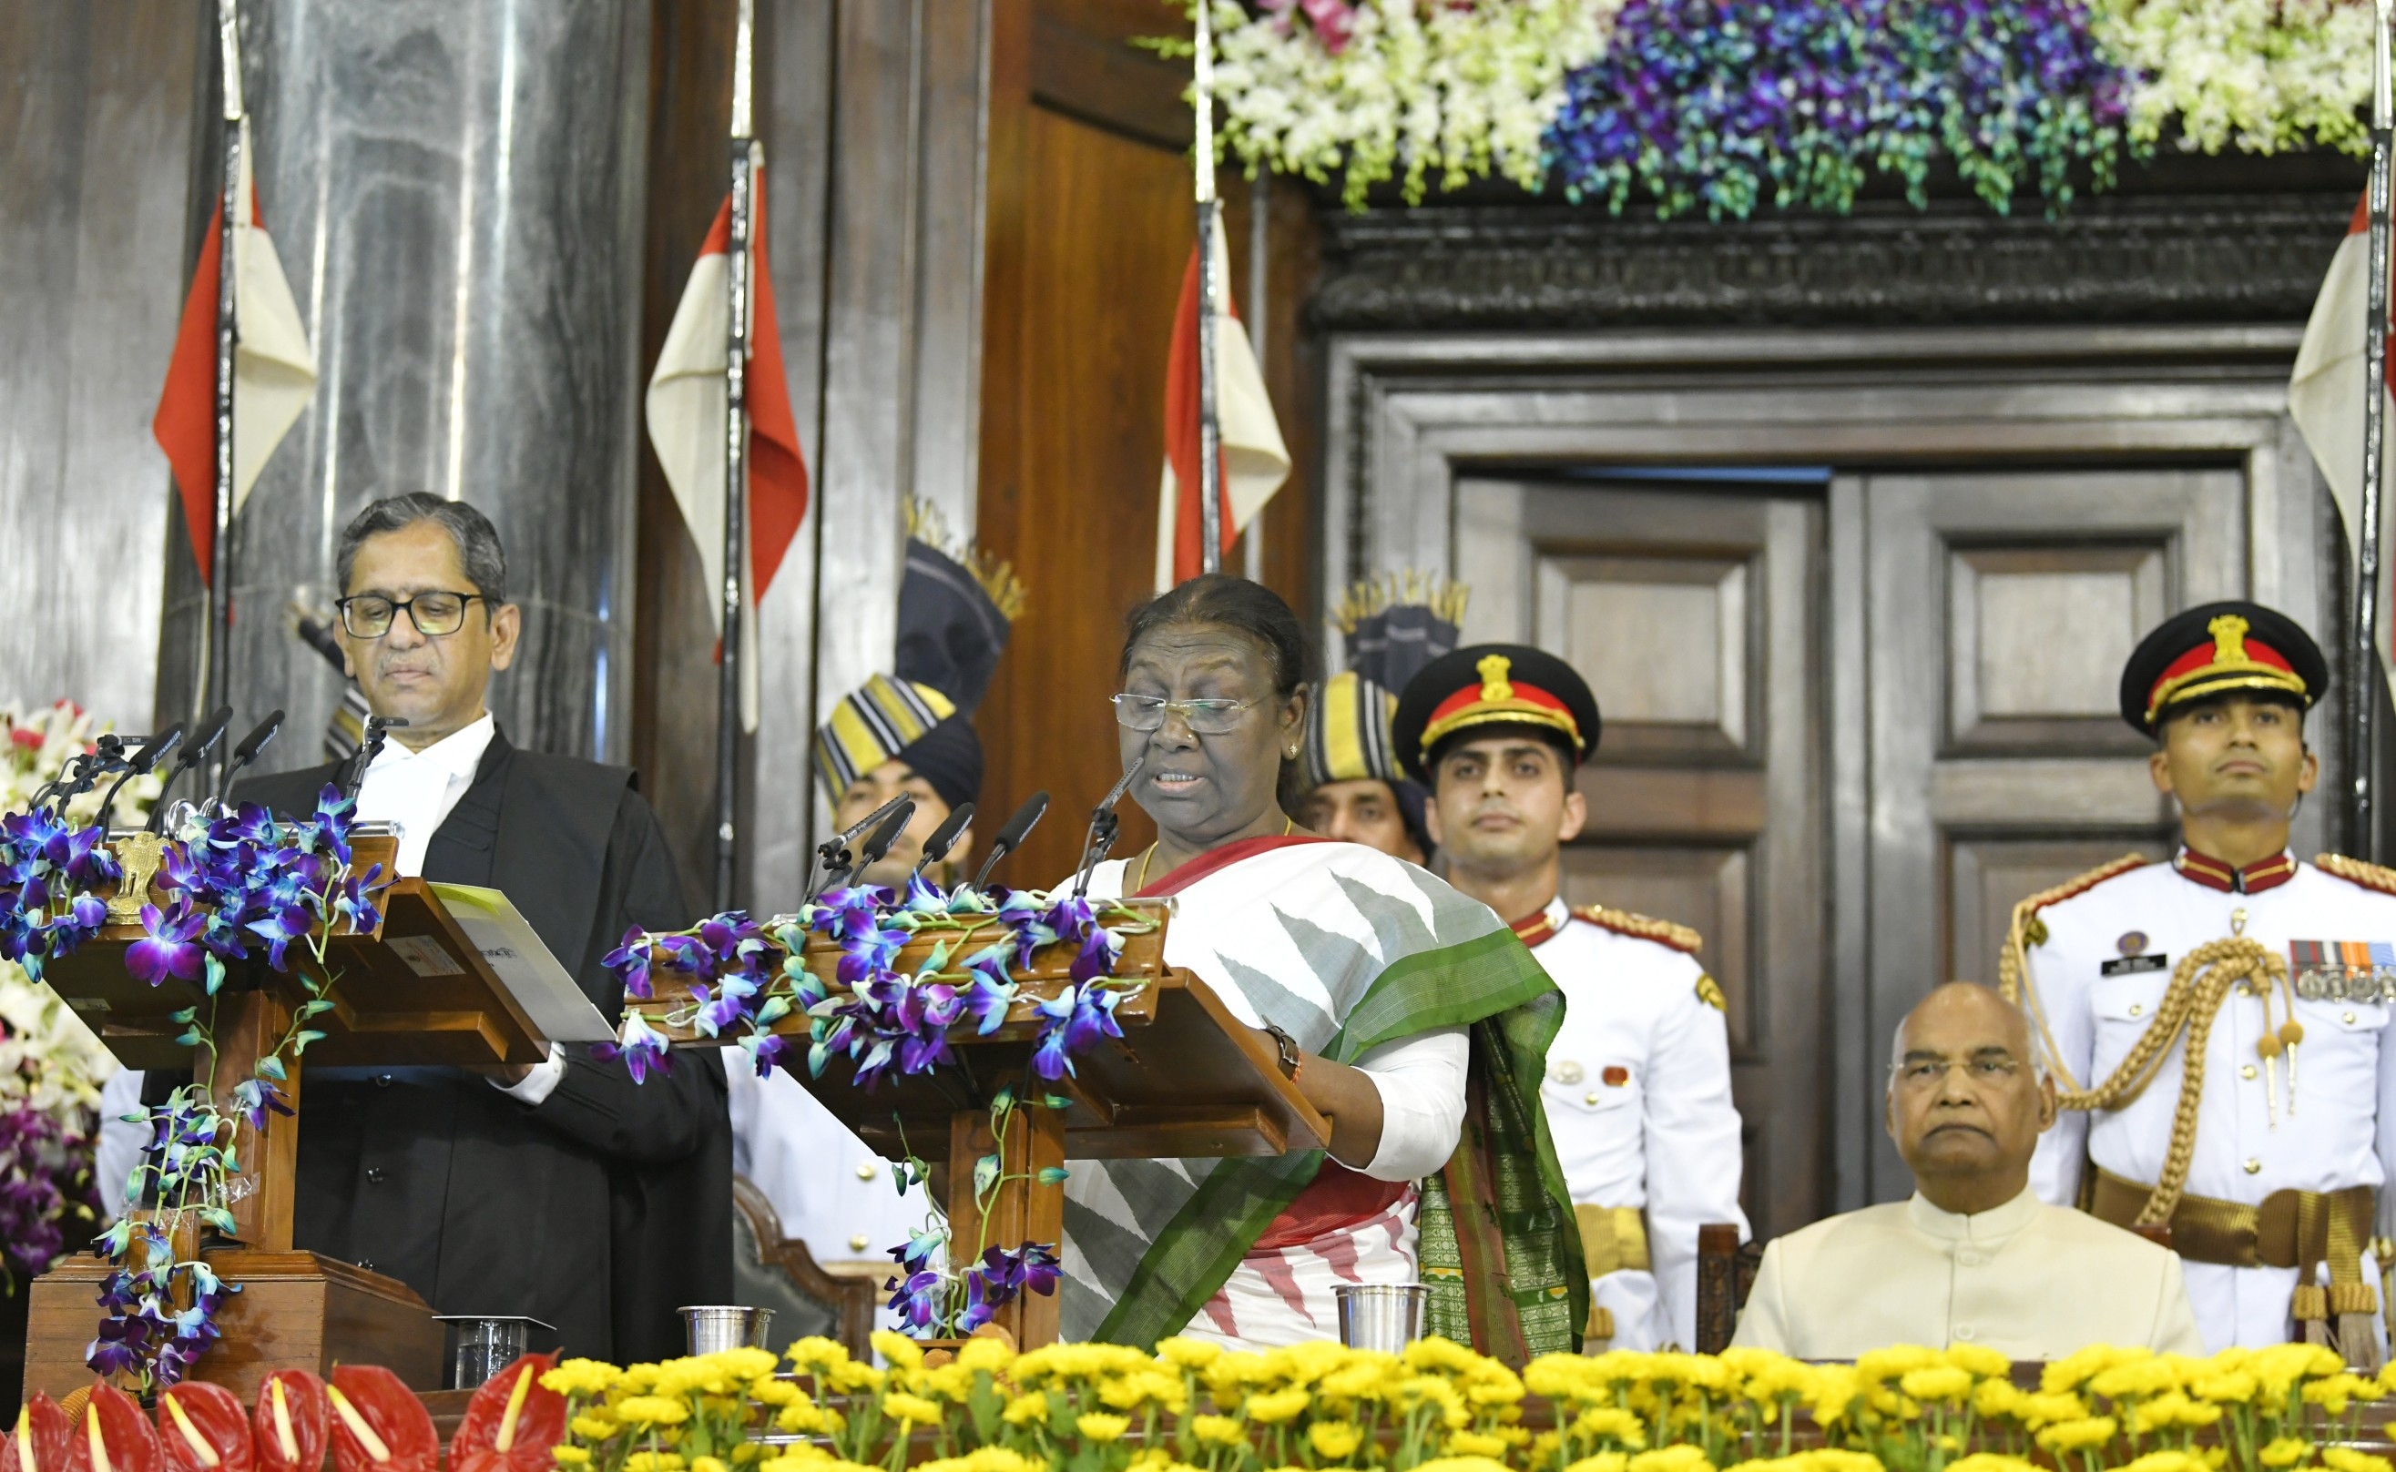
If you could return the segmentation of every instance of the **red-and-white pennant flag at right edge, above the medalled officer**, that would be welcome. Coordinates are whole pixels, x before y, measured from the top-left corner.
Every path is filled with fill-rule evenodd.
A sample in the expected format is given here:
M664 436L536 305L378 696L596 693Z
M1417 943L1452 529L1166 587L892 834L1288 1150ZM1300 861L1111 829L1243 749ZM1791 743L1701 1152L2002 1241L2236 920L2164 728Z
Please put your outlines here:
M2305 342L2295 349L2295 373L2288 378L2288 414L2305 433L2322 479L2346 522L2348 555L2362 546L2362 330L2370 321L2370 196L2355 201L2346 239L2329 261L2322 294L2312 302ZM2396 357L2396 340L2389 342ZM2391 364L2389 383L2396 383ZM2382 405L2386 407L2386 405ZM2384 424L2384 421L2382 421ZM2382 431L2382 457L2386 455ZM2396 677L2389 658L2396 634L2396 603L2389 601L2396 579L2396 505L2382 503L2379 515L2379 663ZM2353 567L2350 562L2348 567Z

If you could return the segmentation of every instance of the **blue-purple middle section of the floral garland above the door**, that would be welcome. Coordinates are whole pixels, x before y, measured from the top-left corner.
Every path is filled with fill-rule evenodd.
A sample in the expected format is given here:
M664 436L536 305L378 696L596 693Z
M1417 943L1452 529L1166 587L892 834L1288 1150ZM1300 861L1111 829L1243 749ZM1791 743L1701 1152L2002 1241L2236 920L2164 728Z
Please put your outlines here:
M2037 177L2113 182L2132 74L2080 0L1629 0L1608 53L1565 79L1548 163L1574 201L1660 218L1704 206L1845 213L1869 172L1926 203L1936 156L1996 211Z

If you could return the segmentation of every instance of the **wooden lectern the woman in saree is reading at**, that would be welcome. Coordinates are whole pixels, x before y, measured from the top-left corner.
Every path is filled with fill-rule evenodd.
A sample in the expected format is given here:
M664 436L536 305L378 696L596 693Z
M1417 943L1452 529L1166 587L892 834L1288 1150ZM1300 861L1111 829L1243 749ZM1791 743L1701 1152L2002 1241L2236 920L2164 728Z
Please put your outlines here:
M1069 1101L1066 1108L1016 1108L1006 1115L1006 1173L1030 1180L1009 1180L987 1202L987 1245L1004 1249L1064 1240L1064 1185L1037 1182L1037 1173L1047 1166L1105 1158L1277 1156L1323 1149L1330 1142L1330 1123L1306 1103L1296 1084L1282 1077L1275 1046L1239 1022L1205 981L1164 965L1172 900L1121 905L1138 910L1152 929L1124 936L1114 979L1145 986L1126 996L1114 1012L1124 1036L1100 1039L1076 1056L1071 1077L1049 1082L1030 1067L1040 1034L1037 1000L1054 998L1071 984L1076 948L1064 943L1042 948L1033 955L1033 965L1011 972L1018 984L1016 1003L997 1032L980 1036L970 1022L949 1029L949 1048L958 1058L954 1065L913 1077L894 1070L875 1089L855 1084L858 1070L848 1058L834 1058L819 1079L807 1077L805 1063L793 1070L824 1108L887 1158L903 1161L915 1154L937 1161L946 1149L949 1240L958 1271L970 1266L968 1257L982 1240L973 1166L994 1149L990 1101L999 1089L1014 1089L1018 1101L1042 1096ZM954 929L925 931L898 953L891 969L913 977L937 943L946 943L951 955L970 955L1004 936L997 919L963 938ZM803 962L831 986L841 950L834 941L812 936ZM654 1000L635 1005L678 1048L716 1048L731 1041L668 1022L671 1012L690 1010L690 993L676 972L657 967L652 986ZM810 1020L803 1012L774 1027L793 1041L803 1041ZM1018 1295L992 1321L1014 1333L1025 1350L1054 1343L1057 1297Z

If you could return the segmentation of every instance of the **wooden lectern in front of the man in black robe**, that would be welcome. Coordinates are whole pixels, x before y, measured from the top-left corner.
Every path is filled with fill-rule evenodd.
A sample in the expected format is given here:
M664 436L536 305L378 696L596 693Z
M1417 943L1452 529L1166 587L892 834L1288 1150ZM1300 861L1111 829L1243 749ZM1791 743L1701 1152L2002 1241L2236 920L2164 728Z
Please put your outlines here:
M132 893L113 898L108 926L74 955L53 960L43 979L127 1067L192 1072L204 1056L194 1058L194 1048L175 1041L182 1024L170 1012L196 1005L206 1015L206 991L175 977L146 986L125 969L125 950L141 938L141 900L156 871L151 845L156 840L139 835L113 845ZM359 826L352 852L357 871L383 864L388 874L398 840ZM153 893L149 900L163 905ZM328 945L328 967L338 977L333 1010L309 1022L326 1036L309 1044L307 1063L494 1065L549 1056L549 1041L431 886L398 881L381 893L381 912L379 929L338 931ZM290 960L292 967L314 965L302 945L290 948ZM225 1103L232 1087L252 1077L259 1053L283 1039L304 1000L300 979L276 974L264 955L225 979L216 998L216 1099L228 1118L237 1118ZM300 1060L288 1060L288 1070L283 1094L300 1111ZM201 1355L194 1379L220 1383L249 1403L276 1369L326 1374L335 1362L371 1362L391 1367L415 1391L438 1391L441 1324L412 1288L357 1264L292 1249L302 1118L273 1115L264 1142L237 1123L242 1173L228 1180L237 1233L201 1252L220 1278L242 1290L225 1295L218 1312L223 1340ZM110 1271L105 1261L77 1257L34 1281L26 1393L65 1395L91 1383L84 1348L101 1324L96 1292Z

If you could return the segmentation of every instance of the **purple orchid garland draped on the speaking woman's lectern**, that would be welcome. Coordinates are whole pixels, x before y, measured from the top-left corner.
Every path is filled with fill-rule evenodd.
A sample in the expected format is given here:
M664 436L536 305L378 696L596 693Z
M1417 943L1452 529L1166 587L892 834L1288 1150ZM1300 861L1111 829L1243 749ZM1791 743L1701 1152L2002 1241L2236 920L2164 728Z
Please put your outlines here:
M990 1139L999 1142L973 1170L975 1240L954 1240L946 1211L930 1206L925 1225L889 1249L896 1273L889 1307L922 1338L966 1336L1021 1292L1057 1290L1057 1242L992 1242L990 1204L1002 1185L1059 1187L1064 1166L1035 1173L1006 1161L1009 1118L1016 1111L1064 1111L1071 1101L1049 1089L1073 1075L1073 1058L1105 1036L1124 1036L1117 1008L1145 986L1117 979L1124 936L1152 931L1133 907L1059 890L942 890L920 874L903 895L851 886L819 895L798 914L764 924L726 912L688 931L633 929L609 953L623 981L625 1015L616 1044L633 1079L671 1065L668 1029L733 1039L760 1077L805 1070L824 1077L834 1058L853 1065L853 1084L875 1091L889 1077L956 1070L954 1034L990 1036L1016 1022L1030 1029L1025 1077L990 1094ZM815 941L817 967L810 967ZM908 965L901 953L915 948ZM834 953L831 965L824 953ZM1047 950L1069 955L1059 984L1025 986L1016 972ZM829 974L827 974L829 972ZM676 991L661 1005L657 981ZM793 1032L791 1020L803 1020ZM800 1041L803 1048L800 1051ZM973 1087L970 1072L963 1084ZM930 1163L898 1161L894 1185L930 1180Z

